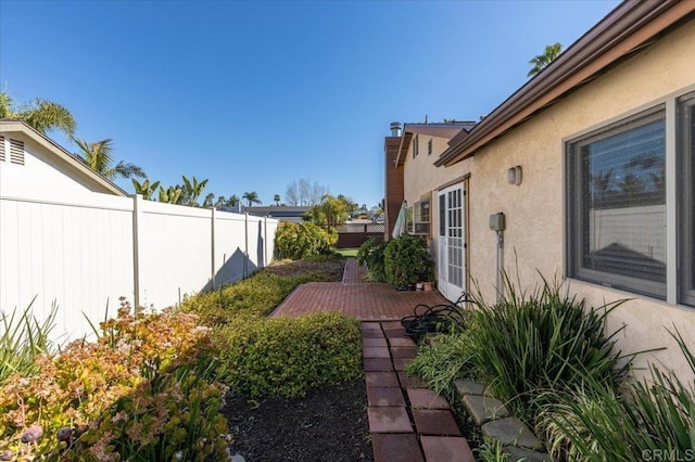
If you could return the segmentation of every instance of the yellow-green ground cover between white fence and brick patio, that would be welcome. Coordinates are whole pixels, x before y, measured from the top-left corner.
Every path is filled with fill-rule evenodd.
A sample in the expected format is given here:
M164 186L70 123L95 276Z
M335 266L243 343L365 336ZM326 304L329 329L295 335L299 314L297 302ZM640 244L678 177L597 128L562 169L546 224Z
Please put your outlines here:
M182 310L200 316L205 325L226 324L239 317L262 318L269 315L298 285L325 279L326 275L320 272L279 275L260 271L222 290L186 298Z

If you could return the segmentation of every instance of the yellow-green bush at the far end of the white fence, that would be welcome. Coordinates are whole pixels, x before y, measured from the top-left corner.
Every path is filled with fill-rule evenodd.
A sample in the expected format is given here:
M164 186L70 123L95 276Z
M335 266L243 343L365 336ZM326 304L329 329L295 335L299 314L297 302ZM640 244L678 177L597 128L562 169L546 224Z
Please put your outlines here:
M329 254L338 242L338 234L328 232L312 222L283 222L275 235L278 258L299 260L315 255Z

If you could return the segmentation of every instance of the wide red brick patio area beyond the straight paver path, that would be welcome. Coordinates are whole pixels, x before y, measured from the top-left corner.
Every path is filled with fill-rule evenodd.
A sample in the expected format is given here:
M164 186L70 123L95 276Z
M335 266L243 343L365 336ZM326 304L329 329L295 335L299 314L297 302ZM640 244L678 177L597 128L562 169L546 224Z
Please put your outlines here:
M365 282L365 268L354 258L345 264L342 282L309 282L296 287L271 316L338 311L361 321L400 320L418 304L447 303L439 292L399 292L391 284Z

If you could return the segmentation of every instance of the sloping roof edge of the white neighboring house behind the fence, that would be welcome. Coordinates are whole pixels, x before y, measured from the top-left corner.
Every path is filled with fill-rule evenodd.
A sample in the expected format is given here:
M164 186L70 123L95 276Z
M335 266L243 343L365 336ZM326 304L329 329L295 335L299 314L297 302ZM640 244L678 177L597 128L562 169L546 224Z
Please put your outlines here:
M65 147L48 138L46 134L37 131L23 120L1 119L0 133L23 133L52 154L56 162L66 165L68 168L97 182L109 193L122 196L128 195L127 192L118 188L112 181L92 170L80 157L72 154L65 150Z

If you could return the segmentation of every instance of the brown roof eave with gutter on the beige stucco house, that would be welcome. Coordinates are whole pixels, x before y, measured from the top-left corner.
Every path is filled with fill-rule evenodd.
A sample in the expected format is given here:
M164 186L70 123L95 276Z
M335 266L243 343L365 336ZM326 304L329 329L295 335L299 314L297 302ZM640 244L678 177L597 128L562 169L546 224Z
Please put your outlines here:
M448 167L472 156L482 146L539 111L658 41L669 28L686 17L693 17L694 11L695 1L620 3L470 132L460 132L454 137L448 143L450 147L434 165Z

